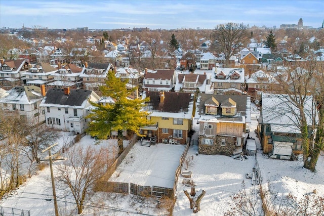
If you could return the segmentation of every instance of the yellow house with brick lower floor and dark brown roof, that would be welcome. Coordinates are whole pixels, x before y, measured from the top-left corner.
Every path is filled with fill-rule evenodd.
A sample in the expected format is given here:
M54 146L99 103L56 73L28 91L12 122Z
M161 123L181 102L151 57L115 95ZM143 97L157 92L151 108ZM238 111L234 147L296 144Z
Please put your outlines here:
M144 92L149 97L145 110L153 124L141 128L143 140L158 143L185 144L192 128L194 96L191 93Z

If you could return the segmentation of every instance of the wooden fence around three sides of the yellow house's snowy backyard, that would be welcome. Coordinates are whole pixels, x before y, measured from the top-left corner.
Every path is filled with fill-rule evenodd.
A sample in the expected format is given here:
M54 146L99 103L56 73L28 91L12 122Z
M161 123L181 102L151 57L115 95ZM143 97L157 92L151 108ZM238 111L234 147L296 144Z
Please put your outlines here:
M133 183L124 183L124 182L109 182L109 178L112 176L114 171L117 169L118 165L123 161L128 152L137 142L136 136L132 138L131 143L127 146L127 149L117 158L117 160L112 164L109 170L106 172L104 177L97 183L95 190L96 191L105 191L113 193L123 193L123 194L134 194L138 196L152 196L152 197L174 197L177 191L177 184L179 176L181 174L181 168L187 156L190 139L187 139L185 150L183 151L180 160L179 166L175 171L175 182L173 188L159 187L159 186L142 186L136 185Z

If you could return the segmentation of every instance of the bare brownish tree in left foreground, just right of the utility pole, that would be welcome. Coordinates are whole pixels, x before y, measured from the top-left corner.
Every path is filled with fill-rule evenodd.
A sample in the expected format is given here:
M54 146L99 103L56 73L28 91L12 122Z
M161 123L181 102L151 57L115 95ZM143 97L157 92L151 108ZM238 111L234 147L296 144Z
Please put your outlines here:
M96 182L112 164L108 153L108 149L104 148L96 150L91 146L74 146L57 167L59 187L73 195L78 214L82 213L84 202Z

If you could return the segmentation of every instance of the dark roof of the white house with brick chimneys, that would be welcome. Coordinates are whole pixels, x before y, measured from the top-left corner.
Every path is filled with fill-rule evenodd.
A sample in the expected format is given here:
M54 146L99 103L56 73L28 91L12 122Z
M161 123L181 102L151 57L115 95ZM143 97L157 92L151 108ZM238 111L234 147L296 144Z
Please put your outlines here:
M65 95L63 89L49 89L41 105L84 106L91 94L90 90L70 90Z

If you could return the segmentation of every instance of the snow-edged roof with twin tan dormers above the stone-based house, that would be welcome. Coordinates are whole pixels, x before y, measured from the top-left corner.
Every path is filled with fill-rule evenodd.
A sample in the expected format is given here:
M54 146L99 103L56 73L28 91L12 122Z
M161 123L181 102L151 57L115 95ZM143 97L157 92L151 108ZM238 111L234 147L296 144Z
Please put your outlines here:
M251 122L251 98L247 95L212 95L212 94L198 94L197 102L196 102L196 111L195 111L195 119L208 118L222 118L221 112L219 111L218 115L211 116L206 115L205 106L226 106L233 107L236 103L236 115L235 117L245 117L245 122ZM204 116L204 117L201 117ZM226 116L226 119L230 118Z

